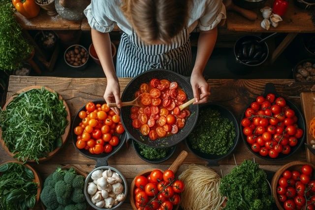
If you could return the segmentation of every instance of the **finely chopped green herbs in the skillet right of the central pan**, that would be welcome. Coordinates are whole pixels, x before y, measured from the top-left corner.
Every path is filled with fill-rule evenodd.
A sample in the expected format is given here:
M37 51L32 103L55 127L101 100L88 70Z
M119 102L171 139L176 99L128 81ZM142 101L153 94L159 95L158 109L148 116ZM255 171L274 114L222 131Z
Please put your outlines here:
M232 122L222 118L218 110L202 109L194 130L189 134L193 149L203 153L222 155L233 146L236 137Z

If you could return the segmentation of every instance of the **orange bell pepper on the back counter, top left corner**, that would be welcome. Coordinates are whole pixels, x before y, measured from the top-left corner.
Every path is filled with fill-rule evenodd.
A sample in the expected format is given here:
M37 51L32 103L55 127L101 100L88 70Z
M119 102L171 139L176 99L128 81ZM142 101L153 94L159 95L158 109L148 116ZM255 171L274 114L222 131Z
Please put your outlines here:
M35 3L35 0L12 0L16 10L26 18L36 17L40 7Z

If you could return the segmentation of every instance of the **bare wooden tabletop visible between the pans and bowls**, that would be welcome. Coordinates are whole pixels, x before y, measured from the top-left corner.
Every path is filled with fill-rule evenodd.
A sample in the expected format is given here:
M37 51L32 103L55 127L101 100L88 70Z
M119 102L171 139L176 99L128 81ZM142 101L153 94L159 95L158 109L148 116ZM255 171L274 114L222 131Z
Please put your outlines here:
M121 91L124 90L130 78L121 78L119 83L121 85ZM300 92L309 91L314 84L295 82L290 79L252 79L252 80L233 80L233 79L211 79L208 80L211 84L211 97L210 101L217 102L221 105L228 107L238 118L246 107L257 95L261 94L264 89L264 85L268 82L273 82L276 85L276 89L279 94L283 96L299 97ZM12 96L18 90L31 86L31 85L44 85L56 90L63 96L63 99L67 102L71 117L75 116L79 108L91 100L101 99L106 87L105 78L60 78L60 77L22 77L22 76L10 76L7 99ZM300 105L299 98L290 98L294 104ZM71 137L70 137L71 138ZM159 165L152 165L141 160L133 148L126 144L123 148L109 158L109 165L117 168L123 175L126 176L128 183L136 174L144 169L160 168L166 169L174 161L181 150L187 150L185 144L182 142L178 145L175 154L169 160ZM276 171L281 165L291 162L293 160L306 161L305 149L302 148L296 152L295 155L289 157L283 161L265 161L254 156L248 148L244 145L243 140L240 140L235 152L235 159L237 164L241 164L244 159L255 159L255 161L261 164L261 168ZM0 164L12 160L2 148L0 148ZM44 162L40 165L31 164L41 175L42 179L51 174L57 166L73 164L81 170L89 173L95 167L95 161L84 157L76 151L72 145L71 139L69 139L63 149L56 154L51 160ZM187 164L207 164L204 160L199 159L189 152L189 156L185 160L179 172L182 172L187 168ZM219 167L212 167L223 175L227 174L231 168L235 166L233 155L220 161ZM126 199L123 207L120 210L130 210L129 199Z

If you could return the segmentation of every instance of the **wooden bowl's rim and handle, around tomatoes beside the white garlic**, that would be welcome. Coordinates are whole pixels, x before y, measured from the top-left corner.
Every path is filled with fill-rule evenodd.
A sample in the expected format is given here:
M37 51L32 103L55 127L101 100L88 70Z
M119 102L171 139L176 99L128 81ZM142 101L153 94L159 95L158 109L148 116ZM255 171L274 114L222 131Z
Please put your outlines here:
M182 163L184 162L185 158L187 157L188 153L187 151L183 150L178 157L176 158L176 160L173 162L173 164L168 168L169 170L173 171L174 174L177 172L177 170L179 169L179 167L182 165ZM137 174L135 177L137 177L138 175L143 175L145 177L147 177L148 175L151 174L151 172L155 170L155 169L146 169L143 170L142 172L140 172L139 174ZM160 170L160 169L158 169ZM162 173L164 173L163 170L160 170ZM130 205L132 207L133 210L137 210L135 202L134 202L134 190L136 189L136 186L134 184L135 181L135 177L133 178L131 185L130 185ZM174 206L174 210L178 210L179 205Z

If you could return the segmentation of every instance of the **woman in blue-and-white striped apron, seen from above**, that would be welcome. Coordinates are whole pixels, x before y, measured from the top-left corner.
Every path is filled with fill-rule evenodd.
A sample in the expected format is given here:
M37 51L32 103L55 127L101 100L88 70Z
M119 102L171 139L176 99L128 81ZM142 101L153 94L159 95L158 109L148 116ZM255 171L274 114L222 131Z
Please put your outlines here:
M117 77L134 77L150 69L190 75L195 104L205 103L210 86L202 73L225 18L222 0L92 0L85 9L96 53L107 77L104 99L121 107ZM124 32L114 68L109 32ZM190 71L189 34L199 27L197 57Z

